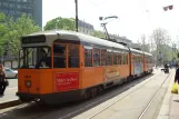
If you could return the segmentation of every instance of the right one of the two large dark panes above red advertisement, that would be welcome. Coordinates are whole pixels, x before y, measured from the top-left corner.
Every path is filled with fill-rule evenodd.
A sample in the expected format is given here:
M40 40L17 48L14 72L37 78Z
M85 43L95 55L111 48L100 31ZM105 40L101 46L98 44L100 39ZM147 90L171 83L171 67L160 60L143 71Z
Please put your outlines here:
M69 44L68 46L68 65L69 68L78 68L79 67L79 46Z

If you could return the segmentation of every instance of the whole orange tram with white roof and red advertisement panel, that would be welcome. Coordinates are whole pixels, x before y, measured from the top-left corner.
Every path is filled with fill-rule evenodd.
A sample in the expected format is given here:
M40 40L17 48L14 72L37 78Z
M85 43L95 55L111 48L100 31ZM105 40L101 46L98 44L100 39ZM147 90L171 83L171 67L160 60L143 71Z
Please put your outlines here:
M21 101L60 103L152 72L152 54L70 31L21 38L18 92Z

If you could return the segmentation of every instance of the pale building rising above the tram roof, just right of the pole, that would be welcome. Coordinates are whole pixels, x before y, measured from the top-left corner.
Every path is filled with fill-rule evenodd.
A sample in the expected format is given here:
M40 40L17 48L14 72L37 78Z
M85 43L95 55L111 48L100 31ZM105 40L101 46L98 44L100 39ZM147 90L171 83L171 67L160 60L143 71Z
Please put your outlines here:
M86 33L86 34L91 34L93 32L93 26L84 22L82 20L78 20L78 28L79 32Z

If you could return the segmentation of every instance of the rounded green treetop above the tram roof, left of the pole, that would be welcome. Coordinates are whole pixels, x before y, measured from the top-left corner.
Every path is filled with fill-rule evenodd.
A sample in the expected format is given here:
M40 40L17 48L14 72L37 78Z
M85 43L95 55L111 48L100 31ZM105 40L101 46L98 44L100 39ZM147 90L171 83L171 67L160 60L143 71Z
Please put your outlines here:
M62 29L62 30L76 30L76 21L73 18L56 18L47 22L44 30Z

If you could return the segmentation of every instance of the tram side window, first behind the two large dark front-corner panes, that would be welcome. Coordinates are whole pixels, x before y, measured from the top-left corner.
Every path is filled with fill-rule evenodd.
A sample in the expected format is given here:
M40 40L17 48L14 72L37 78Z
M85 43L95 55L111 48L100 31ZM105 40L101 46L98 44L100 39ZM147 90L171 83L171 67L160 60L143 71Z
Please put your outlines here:
M92 67L92 49L91 48L84 48L84 66L86 67Z

